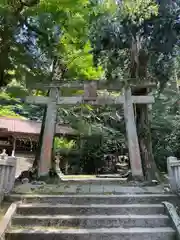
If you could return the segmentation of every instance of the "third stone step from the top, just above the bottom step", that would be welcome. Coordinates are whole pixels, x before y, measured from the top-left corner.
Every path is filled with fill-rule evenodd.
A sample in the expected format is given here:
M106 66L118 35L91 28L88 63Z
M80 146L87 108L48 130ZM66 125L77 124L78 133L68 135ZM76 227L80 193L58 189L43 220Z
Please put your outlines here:
M165 215L16 215L13 226L44 226L65 228L113 228L168 227L170 219Z

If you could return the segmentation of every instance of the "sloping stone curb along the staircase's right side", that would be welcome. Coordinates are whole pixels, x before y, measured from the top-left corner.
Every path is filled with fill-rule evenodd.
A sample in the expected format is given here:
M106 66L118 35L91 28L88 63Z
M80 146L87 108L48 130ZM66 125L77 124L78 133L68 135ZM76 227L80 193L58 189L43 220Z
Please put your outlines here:
M173 227L176 230L177 239L180 240L180 217L177 214L176 208L169 202L163 202L162 204L165 206Z

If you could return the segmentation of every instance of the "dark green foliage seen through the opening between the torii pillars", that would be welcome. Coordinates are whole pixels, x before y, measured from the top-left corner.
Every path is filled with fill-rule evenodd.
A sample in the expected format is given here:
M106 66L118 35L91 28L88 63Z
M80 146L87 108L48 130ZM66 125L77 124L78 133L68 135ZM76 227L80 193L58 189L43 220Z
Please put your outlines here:
M121 109L88 104L69 109L60 109L59 115L80 134L73 164L84 173L94 173L104 164L104 154L127 152L125 126ZM70 158L70 156L69 156ZM74 161L76 161L74 163Z

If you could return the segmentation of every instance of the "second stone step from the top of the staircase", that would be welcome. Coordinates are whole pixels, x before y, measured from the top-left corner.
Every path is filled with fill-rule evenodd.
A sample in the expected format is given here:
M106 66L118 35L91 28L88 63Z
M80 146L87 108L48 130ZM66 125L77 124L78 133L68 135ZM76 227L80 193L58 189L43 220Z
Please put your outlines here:
M162 204L89 204L89 205L73 205L73 204L21 204L17 209L17 214L21 215L126 215L126 214L164 214L165 209Z

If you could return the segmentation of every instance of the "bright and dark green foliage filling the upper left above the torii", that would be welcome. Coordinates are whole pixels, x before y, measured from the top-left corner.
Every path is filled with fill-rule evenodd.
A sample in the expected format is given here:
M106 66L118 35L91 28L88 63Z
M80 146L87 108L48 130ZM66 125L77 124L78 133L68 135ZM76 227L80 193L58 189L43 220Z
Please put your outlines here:
M51 81L55 56L65 78L98 78L87 52L90 12L87 0L1 1L0 87L14 78L31 85Z

